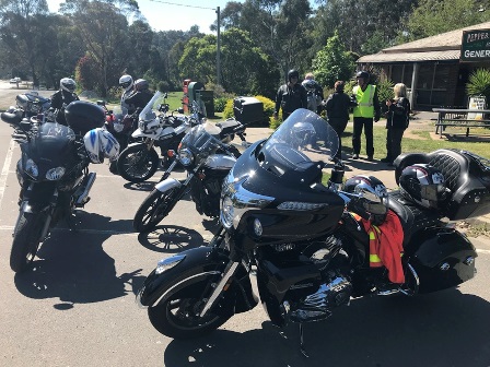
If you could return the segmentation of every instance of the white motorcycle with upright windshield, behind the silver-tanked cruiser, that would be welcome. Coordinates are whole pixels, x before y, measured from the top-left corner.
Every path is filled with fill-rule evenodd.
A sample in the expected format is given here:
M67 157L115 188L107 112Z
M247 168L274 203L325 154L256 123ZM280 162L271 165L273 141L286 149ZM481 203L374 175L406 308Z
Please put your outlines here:
M119 175L130 182L142 182L154 175L160 165L160 156L154 146L160 147L162 158L166 161L166 152L177 150L185 133L200 123L195 116L168 115L168 104L165 103L159 106L156 115L152 106L161 96L156 92L139 115L138 129L132 133L132 139L140 141L129 144L117 159Z

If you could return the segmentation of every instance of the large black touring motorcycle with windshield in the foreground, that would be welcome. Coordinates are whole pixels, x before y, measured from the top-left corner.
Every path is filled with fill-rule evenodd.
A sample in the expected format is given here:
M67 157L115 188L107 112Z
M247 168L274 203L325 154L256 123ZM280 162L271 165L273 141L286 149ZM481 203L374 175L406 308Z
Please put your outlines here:
M337 149L334 129L307 109L295 110L269 139L248 147L223 182L222 233L209 246L159 261L139 289L137 301L148 309L151 324L173 339L198 338L218 329L234 313L258 304L250 282L255 272L271 322L299 323L300 347L307 355L303 324L327 319L351 298L413 296L474 277L475 247L443 217L490 212L488 162L447 150L424 156L447 166L444 175L460 177L451 188L448 211L425 210L398 191L386 199L376 190L343 190L340 162L324 183L323 169ZM398 165L422 157L408 155ZM404 232L405 283L392 292L377 288L387 276L386 268L370 267L370 235L351 212L365 215L362 208L368 212L380 204L395 213Z

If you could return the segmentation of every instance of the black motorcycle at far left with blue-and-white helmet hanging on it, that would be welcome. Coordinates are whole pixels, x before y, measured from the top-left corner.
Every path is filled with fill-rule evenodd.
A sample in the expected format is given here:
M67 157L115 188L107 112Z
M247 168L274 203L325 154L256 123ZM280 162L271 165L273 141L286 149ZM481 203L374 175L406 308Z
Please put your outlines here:
M66 117L69 127L24 119L12 135L22 151L16 165L19 217L10 253L14 272L26 270L50 228L60 220L71 225L75 209L90 200L95 173L89 171L89 164L115 158L119 150L115 138L101 129L105 116L98 106L75 102Z

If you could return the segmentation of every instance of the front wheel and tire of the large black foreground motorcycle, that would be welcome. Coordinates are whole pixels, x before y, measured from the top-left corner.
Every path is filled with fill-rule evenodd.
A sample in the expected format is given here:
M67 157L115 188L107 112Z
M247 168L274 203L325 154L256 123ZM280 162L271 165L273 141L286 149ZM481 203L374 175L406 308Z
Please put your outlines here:
M187 280L199 279L196 275L198 274L189 274ZM202 309L202 299L206 296L202 291L209 288L209 284L219 281L211 279L212 276L215 275L199 279L170 296L168 299L149 307L148 317L153 328L166 336L187 340L209 334L226 322L232 313L218 315L210 309L203 318L196 316ZM211 289L212 287L209 292ZM220 305L214 308L220 308Z

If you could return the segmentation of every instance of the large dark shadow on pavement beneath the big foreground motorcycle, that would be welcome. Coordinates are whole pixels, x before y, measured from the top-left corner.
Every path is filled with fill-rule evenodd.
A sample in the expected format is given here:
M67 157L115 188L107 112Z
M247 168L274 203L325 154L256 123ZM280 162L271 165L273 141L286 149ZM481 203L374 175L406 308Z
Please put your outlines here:
M487 367L489 324L490 304L456 289L359 299L326 321L305 325L310 358L299 350L296 324L281 330L265 321L261 329L244 333L220 329L202 339L172 341L163 362L167 367Z

